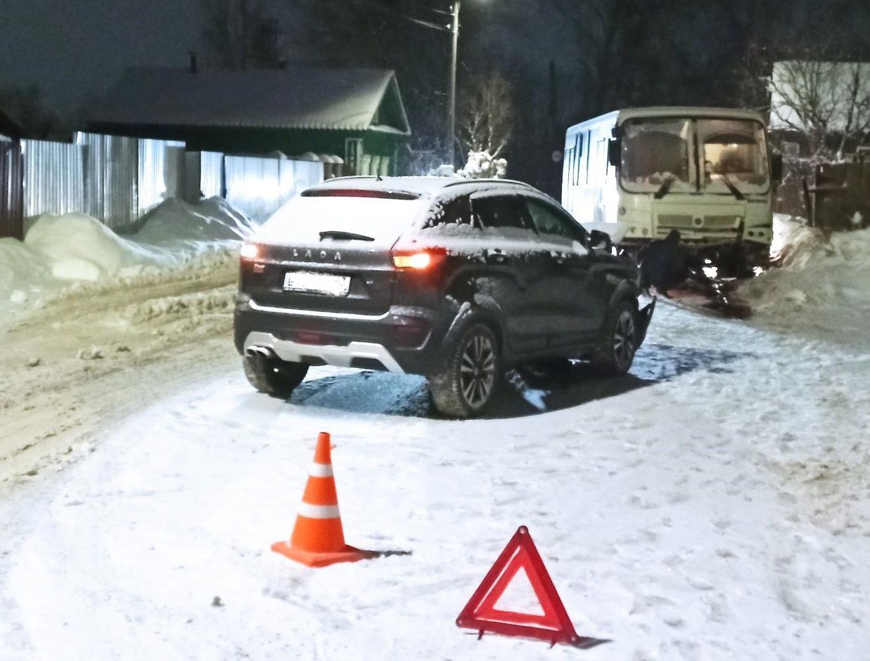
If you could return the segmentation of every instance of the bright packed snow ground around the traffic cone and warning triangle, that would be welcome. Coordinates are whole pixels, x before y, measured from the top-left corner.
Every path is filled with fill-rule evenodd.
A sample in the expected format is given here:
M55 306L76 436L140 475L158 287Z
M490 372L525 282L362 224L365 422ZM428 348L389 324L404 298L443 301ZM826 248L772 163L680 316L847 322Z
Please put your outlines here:
M286 403L235 370L3 495L0 658L867 658L868 377L866 348L665 306L632 376L491 420L433 420L414 377L318 368ZM269 551L321 430L346 539L411 556ZM520 524L612 643L454 625Z

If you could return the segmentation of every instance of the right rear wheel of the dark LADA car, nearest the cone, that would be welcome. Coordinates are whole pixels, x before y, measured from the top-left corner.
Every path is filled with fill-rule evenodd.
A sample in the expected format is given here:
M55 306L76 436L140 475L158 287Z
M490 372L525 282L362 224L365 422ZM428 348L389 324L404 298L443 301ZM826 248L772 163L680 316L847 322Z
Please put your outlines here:
M429 375L429 392L438 413L473 418L492 402L501 382L499 342L480 321L448 339L438 368Z

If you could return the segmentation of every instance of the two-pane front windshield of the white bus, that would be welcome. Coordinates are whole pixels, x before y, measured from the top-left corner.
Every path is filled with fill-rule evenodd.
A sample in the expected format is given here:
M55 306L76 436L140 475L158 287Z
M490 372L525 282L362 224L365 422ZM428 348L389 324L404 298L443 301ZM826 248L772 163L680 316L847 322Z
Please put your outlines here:
M672 193L766 193L764 128L742 119L628 120L622 124L619 178L630 193L655 193L667 181Z

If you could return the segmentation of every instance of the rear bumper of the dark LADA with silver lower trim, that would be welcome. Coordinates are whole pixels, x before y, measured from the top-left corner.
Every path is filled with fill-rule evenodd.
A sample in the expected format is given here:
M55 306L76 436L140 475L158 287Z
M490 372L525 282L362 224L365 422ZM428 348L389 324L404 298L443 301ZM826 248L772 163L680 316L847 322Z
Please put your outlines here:
M240 354L260 347L308 365L425 374L438 360L451 320L418 307L391 307L377 315L264 307L240 295L235 344Z

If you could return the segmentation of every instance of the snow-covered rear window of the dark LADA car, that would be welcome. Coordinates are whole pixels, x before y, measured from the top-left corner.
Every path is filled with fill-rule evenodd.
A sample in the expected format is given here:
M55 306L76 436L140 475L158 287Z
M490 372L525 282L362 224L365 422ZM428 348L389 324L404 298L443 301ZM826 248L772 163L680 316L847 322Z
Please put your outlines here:
M425 206L425 200L407 196L297 195L271 215L255 241L317 244L321 232L349 232L370 236L376 245L392 244Z

